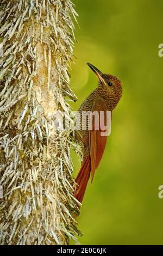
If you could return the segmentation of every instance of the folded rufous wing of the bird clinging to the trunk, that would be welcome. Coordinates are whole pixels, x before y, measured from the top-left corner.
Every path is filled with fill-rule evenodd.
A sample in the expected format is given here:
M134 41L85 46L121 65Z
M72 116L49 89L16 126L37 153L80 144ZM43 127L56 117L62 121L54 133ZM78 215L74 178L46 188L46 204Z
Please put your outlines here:
M98 113L99 119L97 117L95 118L94 115L92 116L92 130L89 131L90 156L91 156L91 182L93 180L95 170L97 169L98 164L102 159L107 137L108 137L107 135L102 136L104 132L106 133L106 127L108 129L111 122L111 115L109 115L109 113L107 115L106 111L107 111L107 108L103 101L95 102L92 106L92 112Z

